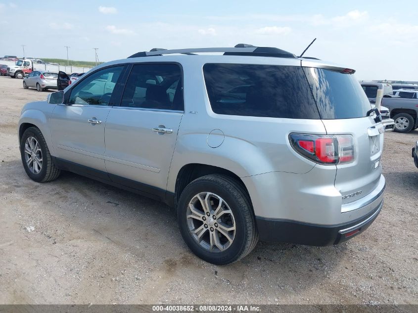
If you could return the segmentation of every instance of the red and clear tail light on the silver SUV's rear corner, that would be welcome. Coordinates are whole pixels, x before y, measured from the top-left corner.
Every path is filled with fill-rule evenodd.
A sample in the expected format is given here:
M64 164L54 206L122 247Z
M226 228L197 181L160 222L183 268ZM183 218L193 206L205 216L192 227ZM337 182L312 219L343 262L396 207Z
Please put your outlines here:
M352 135L289 135L293 149L319 164L345 164L355 159Z

